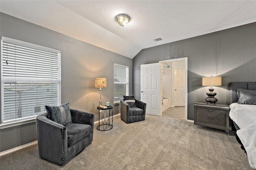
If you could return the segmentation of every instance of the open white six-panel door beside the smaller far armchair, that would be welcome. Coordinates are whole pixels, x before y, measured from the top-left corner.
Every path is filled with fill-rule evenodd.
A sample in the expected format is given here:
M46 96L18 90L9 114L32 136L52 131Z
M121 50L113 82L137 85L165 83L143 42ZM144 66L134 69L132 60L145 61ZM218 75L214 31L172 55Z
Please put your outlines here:
M140 99L149 115L162 116L160 73L160 63L140 65Z

